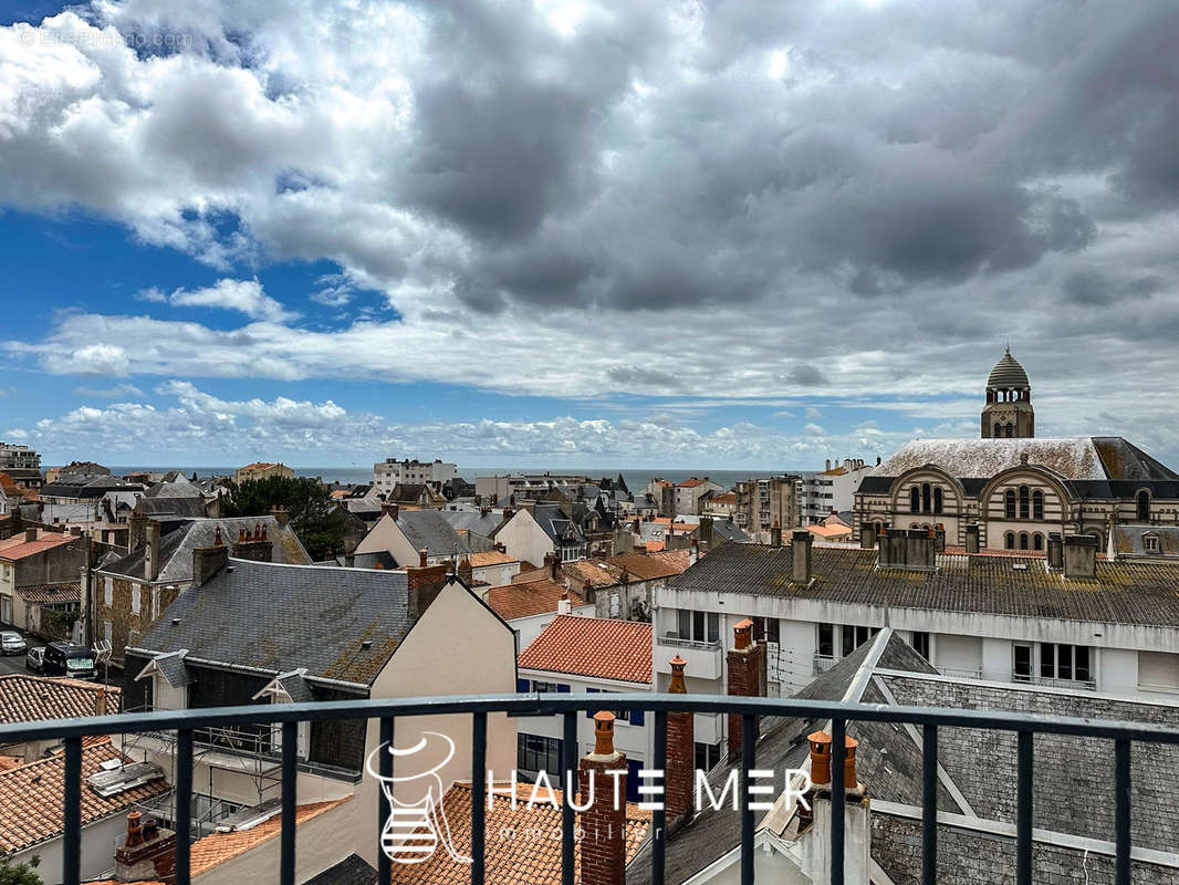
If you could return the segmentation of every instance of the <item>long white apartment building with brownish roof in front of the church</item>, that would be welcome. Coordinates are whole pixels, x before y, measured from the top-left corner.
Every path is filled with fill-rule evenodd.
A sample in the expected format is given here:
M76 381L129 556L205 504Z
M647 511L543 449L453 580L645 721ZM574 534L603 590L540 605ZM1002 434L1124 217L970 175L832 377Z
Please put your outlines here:
M1093 538L1039 556L940 555L926 531L877 550L725 544L654 594L656 690L667 660L690 691L724 690L724 640L751 618L771 695L809 684L885 627L955 677L1179 699L1179 569L1096 560ZM1173 570L1174 569L1174 570Z

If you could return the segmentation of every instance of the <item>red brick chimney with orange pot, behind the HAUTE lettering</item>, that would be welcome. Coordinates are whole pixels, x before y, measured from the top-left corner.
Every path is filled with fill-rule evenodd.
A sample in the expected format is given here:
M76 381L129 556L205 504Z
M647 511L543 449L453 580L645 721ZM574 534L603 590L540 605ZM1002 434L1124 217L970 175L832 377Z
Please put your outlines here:
M614 714L595 713L593 753L581 758L578 789L581 801L582 885L623 885L626 873L626 756L614 749ZM613 775L610 772L624 772Z

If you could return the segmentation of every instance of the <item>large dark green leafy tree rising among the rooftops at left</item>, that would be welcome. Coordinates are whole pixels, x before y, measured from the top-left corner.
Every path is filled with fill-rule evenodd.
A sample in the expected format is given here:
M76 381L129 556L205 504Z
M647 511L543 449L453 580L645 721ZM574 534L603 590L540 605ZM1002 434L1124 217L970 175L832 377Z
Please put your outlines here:
M290 513L290 525L312 559L344 549L347 516L327 487L308 477L266 477L242 483L224 507L228 517L269 516L276 507Z

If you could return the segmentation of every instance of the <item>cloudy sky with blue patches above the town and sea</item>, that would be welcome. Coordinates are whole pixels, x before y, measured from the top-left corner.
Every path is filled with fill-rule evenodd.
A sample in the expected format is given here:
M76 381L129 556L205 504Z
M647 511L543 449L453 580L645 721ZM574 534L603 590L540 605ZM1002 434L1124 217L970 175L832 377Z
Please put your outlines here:
M953 6L953 8L951 8ZM0 5L46 463L1179 461L1173 0Z

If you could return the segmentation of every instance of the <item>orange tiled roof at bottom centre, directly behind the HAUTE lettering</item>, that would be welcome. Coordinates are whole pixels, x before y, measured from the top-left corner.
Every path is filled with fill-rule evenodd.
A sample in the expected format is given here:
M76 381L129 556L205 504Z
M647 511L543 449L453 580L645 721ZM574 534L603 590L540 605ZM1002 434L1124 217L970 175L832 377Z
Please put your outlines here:
M506 787L498 787L506 788ZM516 785L516 805L512 796L496 792L486 814L487 843L485 877L488 885L559 885L561 881L561 840L552 838L560 832L561 791L541 791L528 807L533 787ZM548 801L549 796L553 801ZM545 801L541 801L545 799ZM555 802L555 805L554 805ZM450 824L454 847L462 854L470 853L470 786L455 784L442 799L446 819ZM577 815L580 820L580 814ZM633 802L626 804L626 860L639 852L651 827L651 812ZM581 852L574 852L574 881L581 879ZM470 867L454 860L444 851L421 864L394 864L393 881L402 885L467 885Z

